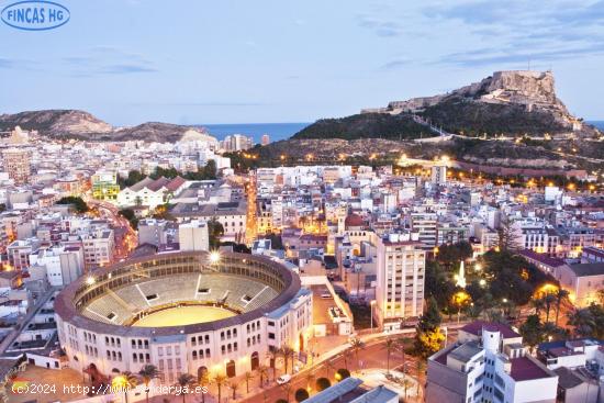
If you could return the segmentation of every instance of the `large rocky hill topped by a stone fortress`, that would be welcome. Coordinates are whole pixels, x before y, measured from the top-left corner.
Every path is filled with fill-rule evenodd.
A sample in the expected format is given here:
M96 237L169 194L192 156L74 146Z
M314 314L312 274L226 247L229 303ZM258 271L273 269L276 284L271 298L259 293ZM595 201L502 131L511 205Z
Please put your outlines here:
M360 115L317 121L294 138L416 138L422 130L410 122L416 123L417 119L468 136L597 136L593 126L572 116L558 99L550 71L496 71L449 93L394 101L385 108L366 109Z

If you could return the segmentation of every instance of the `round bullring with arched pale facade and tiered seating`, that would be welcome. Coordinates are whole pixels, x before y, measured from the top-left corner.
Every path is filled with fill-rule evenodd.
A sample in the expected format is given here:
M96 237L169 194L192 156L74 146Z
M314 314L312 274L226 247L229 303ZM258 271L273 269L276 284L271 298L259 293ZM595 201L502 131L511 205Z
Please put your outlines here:
M268 365L271 349L305 351L312 333L312 293L298 275L232 253L123 261L69 284L55 307L70 367L92 382L147 363L161 371L161 383L184 372L235 377ZM202 312L201 320L188 318L189 311ZM220 318L206 315L216 312Z

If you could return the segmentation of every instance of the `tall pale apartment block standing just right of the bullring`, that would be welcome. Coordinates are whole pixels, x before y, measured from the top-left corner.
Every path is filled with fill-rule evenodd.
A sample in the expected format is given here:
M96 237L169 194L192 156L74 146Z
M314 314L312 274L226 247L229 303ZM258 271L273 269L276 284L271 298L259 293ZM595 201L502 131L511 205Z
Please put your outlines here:
M426 255L417 234L390 234L378 240L374 316L384 329L400 328L424 309Z

